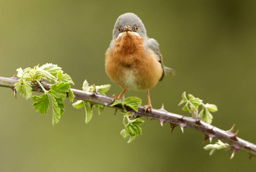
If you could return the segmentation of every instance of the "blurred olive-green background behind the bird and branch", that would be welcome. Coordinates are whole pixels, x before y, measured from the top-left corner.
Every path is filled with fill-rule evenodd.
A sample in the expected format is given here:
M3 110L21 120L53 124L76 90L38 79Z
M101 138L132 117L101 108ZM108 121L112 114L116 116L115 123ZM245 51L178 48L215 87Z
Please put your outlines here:
M119 15L133 12L160 44L165 65L176 70L150 90L154 108L189 115L178 107L187 91L218 105L213 125L256 143L256 1L3 1L0 0L0 76L51 62L81 89L111 84L104 52ZM84 110L65 100L60 123L38 114L32 100L0 88L0 171L253 171L256 158L238 151L203 150L204 134L144 119L143 134L128 144L122 117L106 108L84 123ZM141 97L146 92L129 91ZM214 140L214 142L216 139ZM207 142L208 143L208 142Z

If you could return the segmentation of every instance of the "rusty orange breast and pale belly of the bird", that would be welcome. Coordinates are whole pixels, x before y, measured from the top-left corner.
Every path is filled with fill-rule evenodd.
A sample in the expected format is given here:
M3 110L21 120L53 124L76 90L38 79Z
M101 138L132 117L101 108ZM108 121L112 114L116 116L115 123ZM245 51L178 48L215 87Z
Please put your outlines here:
M123 33L105 55L108 77L122 88L146 90L154 87L162 76L157 55L150 49L145 51L143 37L137 34Z

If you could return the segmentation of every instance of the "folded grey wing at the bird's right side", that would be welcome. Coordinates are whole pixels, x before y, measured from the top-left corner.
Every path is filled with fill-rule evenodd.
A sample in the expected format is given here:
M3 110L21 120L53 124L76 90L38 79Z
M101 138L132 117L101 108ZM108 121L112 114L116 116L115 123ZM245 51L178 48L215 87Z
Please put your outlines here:
M161 81L165 76L165 67L164 62L162 61L162 54L160 53L159 44L153 38L149 38L148 41L146 41L146 44L146 47L150 48L151 50L153 50L154 53L157 54L157 60L160 62L162 66L162 76L159 79Z

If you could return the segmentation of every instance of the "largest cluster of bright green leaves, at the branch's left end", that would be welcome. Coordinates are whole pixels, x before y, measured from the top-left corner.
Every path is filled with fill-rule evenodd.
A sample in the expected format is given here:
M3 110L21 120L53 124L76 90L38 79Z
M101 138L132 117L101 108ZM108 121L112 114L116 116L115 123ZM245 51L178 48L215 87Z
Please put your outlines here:
M64 113L65 97L68 94L69 100L72 101L74 96L71 91L71 85L74 84L71 77L61 71L61 68L55 64L47 63L34 68L18 68L17 69L18 83L14 84L17 92L21 92L26 99L32 97L33 108L40 114L46 114L49 110L49 99L52 101L52 124L59 122L61 115ZM50 90L46 91L42 86L41 81L53 81L55 84L50 86ZM41 96L32 96L32 86L37 85L42 88L44 94Z

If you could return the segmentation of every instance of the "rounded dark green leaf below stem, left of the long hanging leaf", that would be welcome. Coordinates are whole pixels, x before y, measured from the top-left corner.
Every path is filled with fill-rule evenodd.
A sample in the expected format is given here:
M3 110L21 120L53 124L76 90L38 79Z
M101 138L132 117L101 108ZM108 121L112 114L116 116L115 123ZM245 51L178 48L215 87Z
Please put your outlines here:
M46 112L49 110L49 97L46 94L43 94L41 96L32 96L32 100L34 104L32 107L34 110L36 110L40 114L46 114Z

